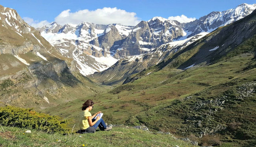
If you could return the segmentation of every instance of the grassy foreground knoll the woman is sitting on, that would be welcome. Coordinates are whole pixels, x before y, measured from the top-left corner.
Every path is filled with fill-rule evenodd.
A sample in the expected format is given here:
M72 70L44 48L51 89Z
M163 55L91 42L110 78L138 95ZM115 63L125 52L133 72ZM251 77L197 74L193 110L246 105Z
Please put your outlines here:
M47 134L38 130L31 130L32 133L25 133L28 129L16 127L3 127L0 131L0 146L4 147L195 147L191 143L175 140L168 134L153 134L139 129L127 129L126 127L113 127L110 131L98 131L89 134ZM81 136L81 137L79 137Z

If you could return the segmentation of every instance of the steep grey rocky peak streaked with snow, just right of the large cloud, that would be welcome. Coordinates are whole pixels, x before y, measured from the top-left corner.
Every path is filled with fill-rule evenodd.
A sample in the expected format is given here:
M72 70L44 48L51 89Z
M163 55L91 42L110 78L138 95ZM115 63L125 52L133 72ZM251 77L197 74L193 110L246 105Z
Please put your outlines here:
M154 17L147 22L141 21L137 24L122 45L112 50L117 50L117 48L124 50L121 54L119 53L122 57L139 55L182 36L183 30L179 22Z

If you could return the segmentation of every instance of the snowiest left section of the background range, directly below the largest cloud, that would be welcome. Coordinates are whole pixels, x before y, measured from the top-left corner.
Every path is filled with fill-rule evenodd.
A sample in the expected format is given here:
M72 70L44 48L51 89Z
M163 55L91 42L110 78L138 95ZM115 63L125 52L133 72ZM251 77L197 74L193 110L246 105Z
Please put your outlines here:
M91 22L60 26L52 22L37 30L61 55L74 59L81 74L89 75L117 62L109 49L115 41L125 38L132 28L121 24L102 25Z

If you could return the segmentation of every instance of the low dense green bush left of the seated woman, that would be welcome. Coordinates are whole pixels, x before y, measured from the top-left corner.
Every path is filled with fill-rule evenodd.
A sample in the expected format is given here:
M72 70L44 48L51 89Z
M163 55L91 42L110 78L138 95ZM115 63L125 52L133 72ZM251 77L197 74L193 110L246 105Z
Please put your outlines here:
M33 108L0 107L0 124L63 134L70 131L70 128L67 127L69 120L61 120L58 116L38 113L33 111Z

